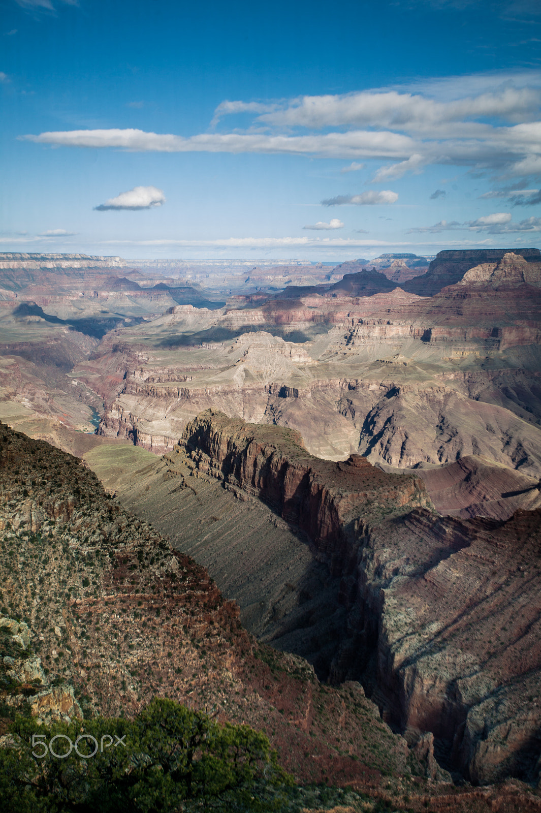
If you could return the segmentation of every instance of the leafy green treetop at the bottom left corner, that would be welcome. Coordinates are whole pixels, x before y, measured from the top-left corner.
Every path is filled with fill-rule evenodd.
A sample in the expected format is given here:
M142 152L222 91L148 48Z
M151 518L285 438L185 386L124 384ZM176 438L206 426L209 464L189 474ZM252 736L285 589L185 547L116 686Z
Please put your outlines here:
M34 746L33 735L40 737ZM75 744L83 735L83 755L75 748L64 758L51 755L44 744L57 735L60 755L70 749L67 737ZM37 726L18 718L11 738L11 747L0 749L0 807L11 813L278 811L292 789L264 734L217 724L167 699L155 699L133 721Z

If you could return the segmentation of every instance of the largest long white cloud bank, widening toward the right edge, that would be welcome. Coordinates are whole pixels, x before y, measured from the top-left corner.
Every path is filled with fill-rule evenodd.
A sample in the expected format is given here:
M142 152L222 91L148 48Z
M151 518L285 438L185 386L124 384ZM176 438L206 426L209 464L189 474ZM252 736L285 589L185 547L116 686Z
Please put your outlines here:
M48 2L48 0L42 0ZM134 128L19 136L52 146L151 152L295 154L385 162L374 182L422 172L431 164L541 179L541 71L426 80L415 89L301 96L279 102L226 100L211 124L249 115L243 131L184 137ZM526 184L522 184L523 186Z

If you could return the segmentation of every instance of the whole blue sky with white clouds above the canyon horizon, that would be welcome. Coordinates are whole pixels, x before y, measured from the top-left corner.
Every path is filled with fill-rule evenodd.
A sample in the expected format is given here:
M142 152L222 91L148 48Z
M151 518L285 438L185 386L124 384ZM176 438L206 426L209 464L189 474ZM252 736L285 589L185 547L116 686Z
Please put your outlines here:
M0 8L0 251L541 246L539 0Z

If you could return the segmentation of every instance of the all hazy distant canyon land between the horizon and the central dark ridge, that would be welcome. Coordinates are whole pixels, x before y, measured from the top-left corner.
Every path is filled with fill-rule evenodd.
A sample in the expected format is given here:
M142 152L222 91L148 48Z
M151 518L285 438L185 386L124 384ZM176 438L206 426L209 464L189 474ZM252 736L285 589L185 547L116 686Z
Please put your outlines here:
M539 249L365 263L209 263L205 288L120 258L3 254L4 403L87 431L99 420L100 436L156 454L213 408L295 429L324 459L428 470L467 458L505 481L539 477ZM439 506L460 512L453 472ZM521 489L497 491L470 505L500 515L501 493Z

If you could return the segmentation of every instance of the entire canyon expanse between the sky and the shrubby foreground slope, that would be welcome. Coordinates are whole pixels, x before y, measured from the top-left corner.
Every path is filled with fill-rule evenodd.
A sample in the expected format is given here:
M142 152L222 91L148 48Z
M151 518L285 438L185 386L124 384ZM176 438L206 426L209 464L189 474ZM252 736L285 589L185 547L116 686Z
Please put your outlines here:
M362 685L426 776L537 785L539 250L161 270L0 263L0 419L206 567L250 646Z

